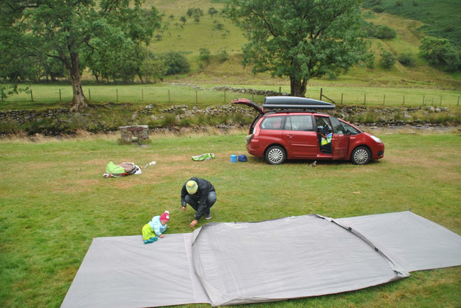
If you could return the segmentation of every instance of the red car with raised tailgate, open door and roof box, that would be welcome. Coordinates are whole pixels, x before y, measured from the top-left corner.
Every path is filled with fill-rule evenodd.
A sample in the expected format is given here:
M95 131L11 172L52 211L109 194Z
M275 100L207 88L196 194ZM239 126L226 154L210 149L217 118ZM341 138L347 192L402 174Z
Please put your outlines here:
M364 165L384 157L384 144L378 137L315 111L335 108L331 103L294 96L267 97L262 107L246 98L231 103L258 111L245 137L247 149L269 164L282 164L285 159L350 159Z

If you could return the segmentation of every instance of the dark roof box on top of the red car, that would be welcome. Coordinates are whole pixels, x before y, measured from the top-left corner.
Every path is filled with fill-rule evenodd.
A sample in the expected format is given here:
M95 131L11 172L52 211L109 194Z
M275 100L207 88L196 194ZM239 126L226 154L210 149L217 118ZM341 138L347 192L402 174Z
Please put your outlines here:
M268 109L334 109L335 105L312 98L298 96L269 96L266 97L262 107Z

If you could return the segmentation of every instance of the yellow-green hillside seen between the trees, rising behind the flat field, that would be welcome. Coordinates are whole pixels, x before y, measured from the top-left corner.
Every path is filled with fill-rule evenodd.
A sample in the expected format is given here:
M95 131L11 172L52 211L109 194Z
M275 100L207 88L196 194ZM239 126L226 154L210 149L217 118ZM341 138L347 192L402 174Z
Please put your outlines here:
M433 8L433 14L439 10L435 1L422 1L423 6L416 8ZM383 5L391 1L382 1ZM427 3L426 3L427 2ZM449 1L450 3L455 1ZM189 74L167 76L165 81L181 81L194 84L242 84L242 85L288 85L289 80L272 78L270 74L257 74L251 72L251 67L243 67L240 64L242 55L242 45L245 38L239 28L228 19L223 18L220 13L210 16L207 12L209 8L216 8L221 11L224 4L220 1L206 0L182 0L167 1L154 0L149 5L154 5L161 13L164 13L163 22L166 27L160 33L161 38L155 40L150 45L153 52L176 51L181 52L191 62L191 72ZM387 8L387 6L385 6ZM200 21L194 22L194 18L187 16L189 8L201 8L204 16ZM456 10L449 10L449 6L441 6L440 14L448 12L454 14ZM389 8L390 10L390 8ZM443 11L443 12L442 12ZM459 9L458 9L459 11ZM331 86L387 86L387 87L411 87L429 89L461 89L460 72L448 73L428 65L426 59L419 55L418 46L424 33L422 21L412 18L396 16L391 13L374 13L368 9L363 11L367 22L374 25L388 25L396 30L396 38L380 40L370 38L372 50L375 53L373 65L370 67L353 67L349 72L338 76L336 79L312 79L309 86L331 85ZM187 21L183 23L179 20L185 16ZM457 15L459 16L459 14ZM456 18L456 16L453 16ZM448 18L450 19L450 18ZM220 29L217 25L221 24ZM458 26L458 25L456 25ZM199 66L199 49L206 48L211 52L211 62L204 67ZM413 67L405 67L396 62L391 69L384 69L380 66L379 60L381 50L388 50L395 57L399 57L403 52L410 52L416 59ZM219 52L225 50L229 58L225 62L217 59ZM91 78L90 76L88 76Z

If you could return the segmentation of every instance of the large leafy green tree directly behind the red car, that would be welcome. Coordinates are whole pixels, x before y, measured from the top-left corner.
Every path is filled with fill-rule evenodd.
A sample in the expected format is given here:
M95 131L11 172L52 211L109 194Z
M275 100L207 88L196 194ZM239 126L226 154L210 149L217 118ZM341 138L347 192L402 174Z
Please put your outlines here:
M291 95L311 78L335 76L368 57L359 0L228 0L224 13L245 31L243 64L289 76Z

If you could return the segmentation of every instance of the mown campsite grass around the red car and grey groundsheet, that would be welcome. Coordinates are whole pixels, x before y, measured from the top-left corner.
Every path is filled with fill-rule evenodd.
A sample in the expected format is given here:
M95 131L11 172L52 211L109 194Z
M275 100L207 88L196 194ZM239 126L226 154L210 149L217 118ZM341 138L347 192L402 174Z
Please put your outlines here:
M191 176L209 179L218 201L212 222L260 221L317 213L350 217L411 210L461 234L461 151L457 131L374 132L384 159L289 161L270 166L246 154L245 132L152 135L150 147L118 143L118 135L77 139L4 139L0 146L0 306L59 307L91 244L99 236L140 234L171 212L170 233L191 232L179 191ZM191 161L214 152L216 159ZM105 179L109 161L149 161L140 176ZM199 222L199 226L207 221ZM166 235L167 236L167 235ZM461 268L413 273L377 287L254 307L459 307ZM190 307L209 307L191 305Z

